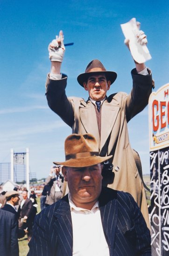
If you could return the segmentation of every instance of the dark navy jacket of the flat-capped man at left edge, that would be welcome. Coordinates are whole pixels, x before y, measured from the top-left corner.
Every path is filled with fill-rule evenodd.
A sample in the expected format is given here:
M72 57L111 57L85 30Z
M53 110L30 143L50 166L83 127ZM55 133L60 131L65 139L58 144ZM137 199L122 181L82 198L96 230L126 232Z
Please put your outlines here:
M14 213L0 209L0 255L19 256L18 227Z

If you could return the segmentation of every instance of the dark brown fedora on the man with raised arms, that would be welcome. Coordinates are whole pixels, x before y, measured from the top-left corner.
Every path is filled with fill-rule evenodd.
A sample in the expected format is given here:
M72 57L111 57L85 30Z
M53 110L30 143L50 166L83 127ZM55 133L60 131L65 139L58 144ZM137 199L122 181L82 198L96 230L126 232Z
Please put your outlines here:
M110 80L111 84L116 80L117 73L113 71L106 71L106 68L99 61L99 59L93 59L86 67L85 73L82 73L77 76L78 83L84 87L83 83L87 82L89 76L94 75L96 73L105 73L106 79Z

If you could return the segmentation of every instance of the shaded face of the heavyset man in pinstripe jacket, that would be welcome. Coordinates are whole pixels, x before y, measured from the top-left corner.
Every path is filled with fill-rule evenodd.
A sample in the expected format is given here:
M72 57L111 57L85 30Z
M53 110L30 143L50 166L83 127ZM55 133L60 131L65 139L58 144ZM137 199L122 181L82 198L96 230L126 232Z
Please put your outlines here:
M83 168L63 167L65 181L77 207L92 209L101 192L101 164Z

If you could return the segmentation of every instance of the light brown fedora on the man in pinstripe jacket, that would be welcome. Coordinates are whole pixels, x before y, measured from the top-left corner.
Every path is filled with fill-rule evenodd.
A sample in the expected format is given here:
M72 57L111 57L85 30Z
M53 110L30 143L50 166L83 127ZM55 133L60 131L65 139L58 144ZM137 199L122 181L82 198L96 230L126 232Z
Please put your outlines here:
M99 156L99 147L95 137L90 134L71 134L64 143L65 161L53 162L68 167L86 167L104 162L112 157Z

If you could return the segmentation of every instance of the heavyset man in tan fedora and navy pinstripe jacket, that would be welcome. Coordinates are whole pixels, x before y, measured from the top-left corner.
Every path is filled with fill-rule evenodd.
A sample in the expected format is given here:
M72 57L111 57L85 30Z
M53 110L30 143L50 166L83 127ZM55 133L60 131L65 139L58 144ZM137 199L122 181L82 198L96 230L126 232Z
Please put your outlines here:
M102 187L102 162L90 133L65 140L69 193L36 215L28 256L151 256L150 231L127 192Z

